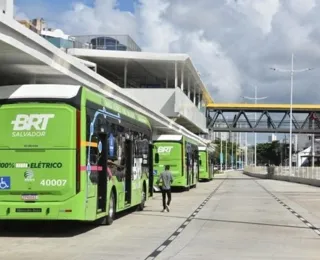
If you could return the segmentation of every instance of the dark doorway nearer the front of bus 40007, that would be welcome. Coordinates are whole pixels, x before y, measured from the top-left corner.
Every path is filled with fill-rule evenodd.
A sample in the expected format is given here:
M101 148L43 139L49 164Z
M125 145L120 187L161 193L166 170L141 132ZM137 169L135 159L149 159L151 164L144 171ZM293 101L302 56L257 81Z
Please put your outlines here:
M125 156L126 156L126 174L125 174L125 201L131 203L132 193L132 167L133 167L133 145L131 140L125 142Z

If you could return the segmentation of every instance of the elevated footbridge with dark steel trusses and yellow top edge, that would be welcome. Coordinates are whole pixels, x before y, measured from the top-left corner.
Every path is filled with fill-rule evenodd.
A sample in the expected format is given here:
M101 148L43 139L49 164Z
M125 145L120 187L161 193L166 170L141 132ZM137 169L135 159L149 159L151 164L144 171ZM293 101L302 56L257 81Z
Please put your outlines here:
M290 127L289 104L207 105L207 126L218 132L287 133ZM292 105L292 133L320 133L320 105Z

